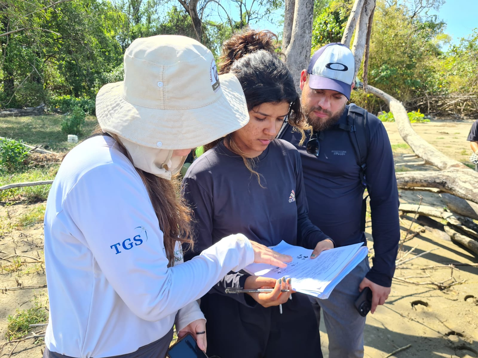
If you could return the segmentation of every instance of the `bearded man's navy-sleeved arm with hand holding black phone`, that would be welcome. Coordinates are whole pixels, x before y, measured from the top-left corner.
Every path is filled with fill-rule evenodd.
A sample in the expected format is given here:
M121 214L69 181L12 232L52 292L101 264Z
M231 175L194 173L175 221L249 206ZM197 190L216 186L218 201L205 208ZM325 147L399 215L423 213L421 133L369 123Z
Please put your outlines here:
M372 290L373 313L377 305L383 305L390 294L400 239L393 153L387 131L381 122L378 123L377 130L371 133L365 176L370 196L375 255L372 259L373 266L361 282L359 290L366 286Z

